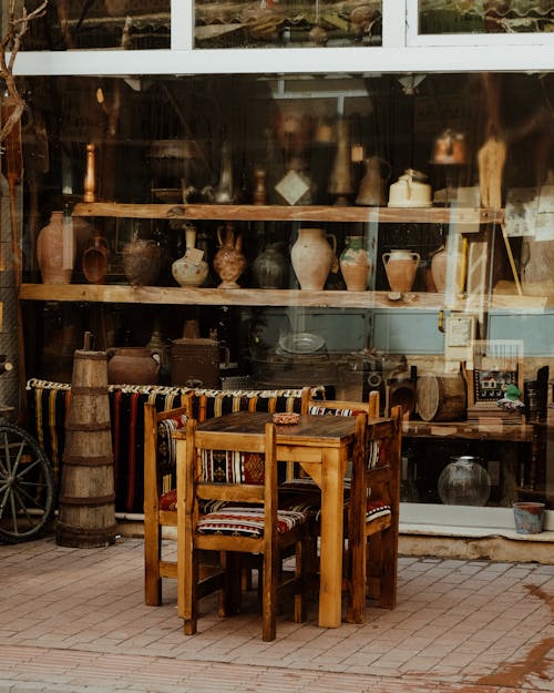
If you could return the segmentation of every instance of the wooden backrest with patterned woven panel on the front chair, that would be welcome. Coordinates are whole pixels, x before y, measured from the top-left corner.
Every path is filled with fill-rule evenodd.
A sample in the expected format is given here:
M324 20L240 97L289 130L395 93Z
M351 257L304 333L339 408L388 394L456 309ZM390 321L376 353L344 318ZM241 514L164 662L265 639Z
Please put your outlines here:
M258 473L249 473L246 470L248 465L256 467ZM223 466L227 467L226 475L220 473ZM217 473L214 473L216 468ZM198 430L196 420L188 419L185 469L179 469L181 472L184 472L187 512L197 517L201 501L263 505L264 542L275 540L277 455L274 424L266 424L263 434L245 435Z

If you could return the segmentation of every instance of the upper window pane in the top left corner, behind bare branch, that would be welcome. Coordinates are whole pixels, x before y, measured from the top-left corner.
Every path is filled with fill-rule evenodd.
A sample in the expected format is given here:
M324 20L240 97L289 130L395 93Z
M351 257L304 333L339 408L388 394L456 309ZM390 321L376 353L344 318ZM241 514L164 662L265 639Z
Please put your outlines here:
M9 0L2 3L6 31ZM16 0L21 17L22 0ZM25 0L28 12L42 0ZM43 17L30 23L21 50L65 51L74 49L170 48L171 0L50 0Z

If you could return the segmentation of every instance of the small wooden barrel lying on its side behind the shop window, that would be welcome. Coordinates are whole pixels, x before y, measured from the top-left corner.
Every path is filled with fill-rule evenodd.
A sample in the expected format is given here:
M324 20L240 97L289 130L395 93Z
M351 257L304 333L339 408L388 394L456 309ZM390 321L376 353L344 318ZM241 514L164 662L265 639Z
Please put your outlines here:
M458 421L468 410L465 380L461 373L423 375L416 386L417 412L424 421Z

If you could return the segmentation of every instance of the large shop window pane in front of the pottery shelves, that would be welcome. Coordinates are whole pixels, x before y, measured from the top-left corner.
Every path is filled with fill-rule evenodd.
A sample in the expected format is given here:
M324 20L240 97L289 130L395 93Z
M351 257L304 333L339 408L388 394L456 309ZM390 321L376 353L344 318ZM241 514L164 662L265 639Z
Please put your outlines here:
M463 505L554 501L533 428L552 411L553 73L21 89L28 377L69 381L89 329L101 348L161 348L155 386L185 368L209 387L377 390L404 408L406 501L456 502L453 468L439 479L463 456ZM52 277L40 237L64 208L74 264ZM199 350L179 360L184 334ZM206 364L209 338L225 348ZM497 404L510 385L517 409Z

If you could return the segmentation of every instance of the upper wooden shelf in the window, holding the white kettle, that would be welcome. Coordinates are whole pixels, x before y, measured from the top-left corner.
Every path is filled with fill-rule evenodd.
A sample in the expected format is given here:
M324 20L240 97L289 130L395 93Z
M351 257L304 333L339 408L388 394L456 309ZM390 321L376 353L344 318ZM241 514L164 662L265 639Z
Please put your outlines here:
M73 216L111 216L121 218L163 218L182 221L245 222L336 222L379 224L499 224L502 210L450 207L341 207L287 205L218 205L218 204L120 204L115 202L80 202Z

